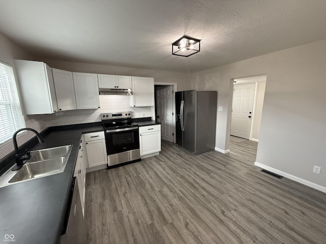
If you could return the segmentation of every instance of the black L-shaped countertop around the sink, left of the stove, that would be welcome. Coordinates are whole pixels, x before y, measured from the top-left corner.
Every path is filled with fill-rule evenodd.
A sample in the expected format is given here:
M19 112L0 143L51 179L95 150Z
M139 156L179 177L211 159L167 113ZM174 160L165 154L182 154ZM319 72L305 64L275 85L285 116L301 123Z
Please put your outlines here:
M103 131L101 125L53 128L43 144L30 150L72 145L63 173L0 188L0 241L3 243L59 243L69 200L80 137ZM8 237L8 239L7 239Z

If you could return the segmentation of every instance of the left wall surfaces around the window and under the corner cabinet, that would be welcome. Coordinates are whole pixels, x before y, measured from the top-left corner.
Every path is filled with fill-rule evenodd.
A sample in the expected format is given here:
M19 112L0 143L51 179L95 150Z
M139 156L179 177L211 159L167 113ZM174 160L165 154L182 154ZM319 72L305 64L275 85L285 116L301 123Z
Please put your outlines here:
M32 55L24 52L20 47L12 43L7 37L0 33L0 60L13 66L14 59L32 59ZM26 127L33 128L37 131L42 131L47 127L44 121L44 115L25 115ZM17 139L18 146L34 137L32 132L26 132L24 135ZM0 144L0 159L14 150L12 141Z

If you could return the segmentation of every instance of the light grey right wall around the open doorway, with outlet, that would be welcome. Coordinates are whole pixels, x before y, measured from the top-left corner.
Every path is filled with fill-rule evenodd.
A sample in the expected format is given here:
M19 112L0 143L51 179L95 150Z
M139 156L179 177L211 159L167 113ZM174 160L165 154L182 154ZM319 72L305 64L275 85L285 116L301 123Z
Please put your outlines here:
M218 89L216 147L229 149L232 88L236 77L267 74L257 163L326 192L326 40L193 74ZM212 80L207 77L214 77ZM321 173L312 172L313 166Z

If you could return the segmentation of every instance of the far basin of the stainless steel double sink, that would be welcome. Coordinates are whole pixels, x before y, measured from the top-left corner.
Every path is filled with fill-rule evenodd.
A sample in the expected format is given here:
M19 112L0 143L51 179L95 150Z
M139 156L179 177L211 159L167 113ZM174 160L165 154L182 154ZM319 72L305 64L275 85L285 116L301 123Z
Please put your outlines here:
M71 145L46 148L42 150L31 151L29 163L39 162L48 159L55 159L67 155Z

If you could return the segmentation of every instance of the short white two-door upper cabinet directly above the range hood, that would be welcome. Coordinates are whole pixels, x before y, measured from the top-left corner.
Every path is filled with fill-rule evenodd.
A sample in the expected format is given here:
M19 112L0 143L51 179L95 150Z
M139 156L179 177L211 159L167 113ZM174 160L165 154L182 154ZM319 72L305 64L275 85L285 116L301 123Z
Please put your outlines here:
M130 88L131 76L123 75L102 75L98 74L98 87L99 88Z

